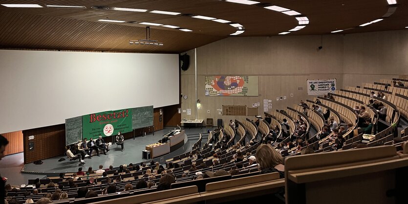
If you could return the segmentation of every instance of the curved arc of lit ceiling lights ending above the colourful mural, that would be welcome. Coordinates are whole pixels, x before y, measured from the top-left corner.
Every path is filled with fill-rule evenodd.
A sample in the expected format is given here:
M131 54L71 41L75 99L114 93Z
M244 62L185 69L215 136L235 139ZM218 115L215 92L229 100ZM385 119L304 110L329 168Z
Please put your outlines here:
M259 1L253 1L253 0L225 0L227 2L233 2L233 3L241 3L241 4L246 4L246 5L253 5L253 4L258 4L259 6ZM269 4L270 5L270 4ZM295 11L295 10L291 10L288 8L284 8L284 7L280 7L277 5L272 5L272 6L265 6L264 8L269 9L269 10L273 10L273 11L278 11L281 12L283 14L289 15L289 16L301 16L302 14ZM299 26L296 26L293 29L290 29L288 32L281 32L279 33L279 35L286 35L290 32L294 32L294 31L298 31L304 27L306 27L307 24L309 24L309 19L305 16L303 17L296 17L296 20L298 20ZM231 35L238 35L236 33L233 33Z

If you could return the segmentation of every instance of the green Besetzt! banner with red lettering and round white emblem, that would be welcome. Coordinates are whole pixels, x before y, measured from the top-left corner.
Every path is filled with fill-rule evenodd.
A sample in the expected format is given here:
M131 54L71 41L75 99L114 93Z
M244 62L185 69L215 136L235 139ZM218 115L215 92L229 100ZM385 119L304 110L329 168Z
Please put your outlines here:
M117 135L118 132L132 132L131 109L93 113L82 116L83 137Z

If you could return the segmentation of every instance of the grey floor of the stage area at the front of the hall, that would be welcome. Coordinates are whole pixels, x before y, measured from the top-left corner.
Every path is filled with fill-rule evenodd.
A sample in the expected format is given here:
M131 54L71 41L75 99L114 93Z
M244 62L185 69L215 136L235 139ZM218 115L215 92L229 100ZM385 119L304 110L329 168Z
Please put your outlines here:
M82 167L83 171L86 171L89 166L92 166L93 170L97 170L100 164L104 165L104 169L108 168L109 165L116 167L122 164L129 165L129 163L140 164L142 161L151 160L142 159L142 151L145 150L146 145L157 142L159 139L163 138L163 135L173 129L173 127L166 127L164 130L156 131L154 136L149 134L146 136L138 136L134 140L132 138L127 139L125 140L125 150L123 152L121 151L120 145L116 147L116 144L113 144L110 147L110 151L107 152L107 155L100 154L100 157L93 156L92 159L85 158L84 160L86 161L86 164L83 166L78 166L78 163L74 162L69 163L66 156L43 159L43 164L40 165L34 163L22 165L22 153L7 156L0 161L0 173L1 176L9 179L8 183L22 184L27 183L28 179L58 176L61 172L76 172L78 171L78 167ZM191 151L192 145L199 138L199 133L203 133L203 143L207 141L207 131L205 129L191 128L186 129L185 133L185 144L182 147L153 160L160 162L160 164L164 164L166 159ZM60 158L64 158L65 160L58 161ZM18 168L21 168L21 166L21 172L16 171Z

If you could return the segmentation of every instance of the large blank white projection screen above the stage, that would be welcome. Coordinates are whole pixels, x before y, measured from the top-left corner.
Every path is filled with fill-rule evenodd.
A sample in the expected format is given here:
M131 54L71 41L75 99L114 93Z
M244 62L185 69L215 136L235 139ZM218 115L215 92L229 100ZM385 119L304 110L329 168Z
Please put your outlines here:
M0 133L179 102L177 54L0 50Z

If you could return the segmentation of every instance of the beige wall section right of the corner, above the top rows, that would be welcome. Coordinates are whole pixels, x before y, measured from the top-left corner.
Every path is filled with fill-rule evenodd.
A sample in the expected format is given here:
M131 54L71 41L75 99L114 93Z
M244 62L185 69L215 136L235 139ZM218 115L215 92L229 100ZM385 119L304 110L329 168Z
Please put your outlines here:
M408 74L407 29L344 36L344 85L360 86L404 74Z

